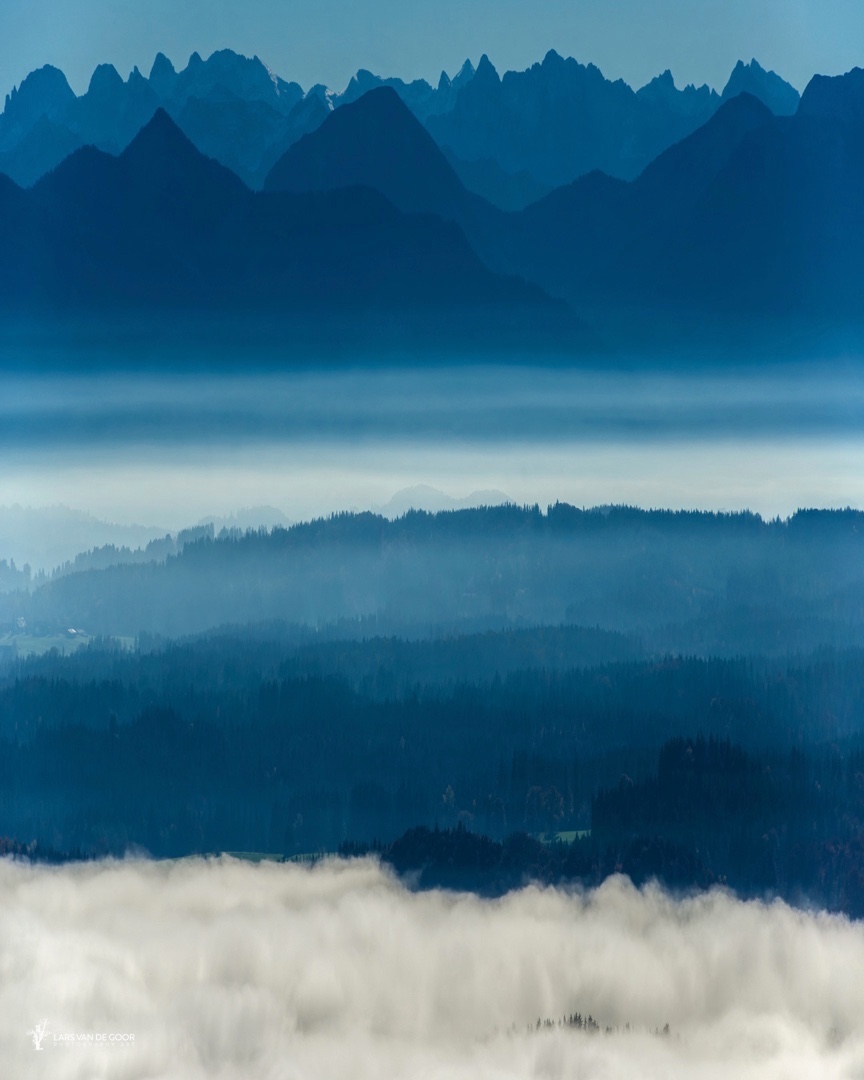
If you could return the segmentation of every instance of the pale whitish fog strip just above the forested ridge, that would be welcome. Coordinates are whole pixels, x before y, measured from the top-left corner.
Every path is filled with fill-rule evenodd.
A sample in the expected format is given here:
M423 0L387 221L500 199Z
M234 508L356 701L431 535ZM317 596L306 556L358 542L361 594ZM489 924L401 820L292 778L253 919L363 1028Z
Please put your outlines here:
M496 489L541 507L626 503L786 517L799 508L864 505L864 438L71 448L4 456L0 504L65 503L105 521L176 531L255 504L293 521L369 510L417 484L456 497Z

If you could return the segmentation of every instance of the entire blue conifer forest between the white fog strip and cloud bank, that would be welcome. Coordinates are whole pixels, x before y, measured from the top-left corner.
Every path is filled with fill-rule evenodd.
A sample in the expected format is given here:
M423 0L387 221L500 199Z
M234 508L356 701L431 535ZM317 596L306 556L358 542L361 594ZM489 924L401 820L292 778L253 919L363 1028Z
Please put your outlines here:
M864 914L861 525L558 504L94 554L0 597L10 626L91 631L4 638L2 829Z

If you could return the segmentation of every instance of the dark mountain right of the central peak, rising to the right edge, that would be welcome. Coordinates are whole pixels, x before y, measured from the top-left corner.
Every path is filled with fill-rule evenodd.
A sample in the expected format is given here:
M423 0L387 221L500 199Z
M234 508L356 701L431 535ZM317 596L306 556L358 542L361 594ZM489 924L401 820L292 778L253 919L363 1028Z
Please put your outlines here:
M864 77L814 80L794 117L728 100L629 184L594 174L473 237L489 265L610 312L861 322ZM671 321L672 320L672 321Z

